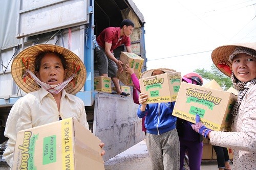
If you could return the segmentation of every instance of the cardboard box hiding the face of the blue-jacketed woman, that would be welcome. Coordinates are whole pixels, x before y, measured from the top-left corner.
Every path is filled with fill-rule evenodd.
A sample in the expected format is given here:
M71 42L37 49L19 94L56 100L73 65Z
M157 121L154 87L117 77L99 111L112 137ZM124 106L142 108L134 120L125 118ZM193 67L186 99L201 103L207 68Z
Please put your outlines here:
M139 79L140 91L148 96L145 104L176 101L181 84L180 72L166 72L165 74Z

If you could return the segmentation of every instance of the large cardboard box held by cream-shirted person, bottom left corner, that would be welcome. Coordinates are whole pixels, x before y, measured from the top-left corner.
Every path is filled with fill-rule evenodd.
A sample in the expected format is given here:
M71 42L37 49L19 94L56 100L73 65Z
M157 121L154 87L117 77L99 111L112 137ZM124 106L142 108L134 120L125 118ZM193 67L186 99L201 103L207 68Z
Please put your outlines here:
M100 142L73 118L19 131L12 169L104 169Z

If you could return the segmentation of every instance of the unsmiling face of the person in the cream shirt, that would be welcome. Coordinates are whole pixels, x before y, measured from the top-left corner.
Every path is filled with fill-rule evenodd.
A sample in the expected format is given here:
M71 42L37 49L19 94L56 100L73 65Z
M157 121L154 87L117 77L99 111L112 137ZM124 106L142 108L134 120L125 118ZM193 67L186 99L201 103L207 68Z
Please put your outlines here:
M64 81L67 70L63 68L61 60L55 54L46 54L40 63L36 76L41 82L57 85Z

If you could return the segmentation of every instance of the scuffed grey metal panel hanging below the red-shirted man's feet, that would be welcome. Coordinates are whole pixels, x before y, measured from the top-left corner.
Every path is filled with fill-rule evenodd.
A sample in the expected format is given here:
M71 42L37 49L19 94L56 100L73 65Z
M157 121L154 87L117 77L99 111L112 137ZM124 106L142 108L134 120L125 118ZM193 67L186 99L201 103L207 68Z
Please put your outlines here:
M113 158L145 138L137 109L138 105L130 97L96 94L97 114L94 114L93 133L105 143L104 160Z

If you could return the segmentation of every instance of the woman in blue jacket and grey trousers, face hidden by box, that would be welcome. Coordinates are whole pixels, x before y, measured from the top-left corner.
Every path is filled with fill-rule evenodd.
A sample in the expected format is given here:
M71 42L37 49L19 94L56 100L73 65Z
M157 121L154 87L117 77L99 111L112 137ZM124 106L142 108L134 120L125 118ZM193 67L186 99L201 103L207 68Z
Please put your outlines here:
M143 72L142 78L176 72L159 68ZM137 115L145 118L146 145L153 170L177 170L180 165L180 142L176 130L176 117L172 115L175 102L143 104L147 94L140 93Z

